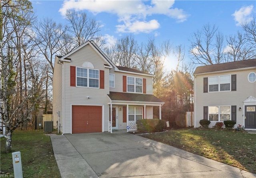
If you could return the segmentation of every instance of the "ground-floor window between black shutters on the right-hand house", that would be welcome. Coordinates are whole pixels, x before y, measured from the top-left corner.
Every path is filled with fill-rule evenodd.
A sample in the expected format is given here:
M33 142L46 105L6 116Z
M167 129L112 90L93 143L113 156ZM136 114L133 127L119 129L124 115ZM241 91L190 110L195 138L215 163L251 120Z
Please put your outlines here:
M209 121L230 120L230 106L209 106Z

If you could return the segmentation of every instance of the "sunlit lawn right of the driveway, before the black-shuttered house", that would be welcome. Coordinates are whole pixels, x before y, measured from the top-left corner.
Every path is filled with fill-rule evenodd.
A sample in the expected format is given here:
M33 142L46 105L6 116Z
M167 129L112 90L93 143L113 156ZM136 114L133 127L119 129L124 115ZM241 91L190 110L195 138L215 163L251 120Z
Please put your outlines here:
M179 129L140 135L256 174L256 135L225 129Z

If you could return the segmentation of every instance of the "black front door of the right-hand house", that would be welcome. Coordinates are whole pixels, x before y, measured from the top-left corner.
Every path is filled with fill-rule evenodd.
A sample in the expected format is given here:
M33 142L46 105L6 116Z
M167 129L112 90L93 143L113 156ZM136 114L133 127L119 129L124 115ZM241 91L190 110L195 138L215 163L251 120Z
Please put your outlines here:
M256 129L256 106L245 106L245 129Z

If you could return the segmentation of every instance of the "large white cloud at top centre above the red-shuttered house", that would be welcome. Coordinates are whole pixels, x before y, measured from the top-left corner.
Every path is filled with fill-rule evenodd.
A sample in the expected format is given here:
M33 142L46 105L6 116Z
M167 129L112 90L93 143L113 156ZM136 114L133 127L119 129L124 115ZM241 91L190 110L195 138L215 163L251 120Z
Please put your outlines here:
M148 16L165 15L174 18L177 22L184 22L188 15L178 8L173 8L174 0L69 0L64 1L59 12L64 16L69 9L88 10L93 14L106 12L116 14L118 32L149 33L158 29L160 23L157 20L147 20Z

